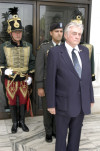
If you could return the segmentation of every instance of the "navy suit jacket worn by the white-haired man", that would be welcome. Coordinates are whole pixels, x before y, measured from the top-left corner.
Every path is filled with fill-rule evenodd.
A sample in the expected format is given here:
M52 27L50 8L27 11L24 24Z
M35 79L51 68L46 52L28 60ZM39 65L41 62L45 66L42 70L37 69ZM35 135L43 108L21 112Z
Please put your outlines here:
M90 113L91 102L94 102L91 81L89 51L79 45L82 61L82 76L78 77L65 44L49 51L47 62L47 103L48 108L77 116L81 109L84 114Z

